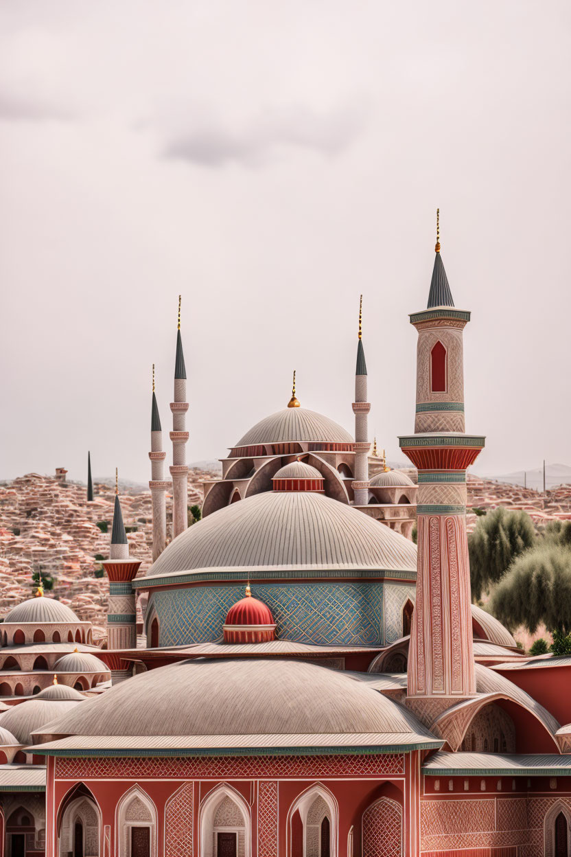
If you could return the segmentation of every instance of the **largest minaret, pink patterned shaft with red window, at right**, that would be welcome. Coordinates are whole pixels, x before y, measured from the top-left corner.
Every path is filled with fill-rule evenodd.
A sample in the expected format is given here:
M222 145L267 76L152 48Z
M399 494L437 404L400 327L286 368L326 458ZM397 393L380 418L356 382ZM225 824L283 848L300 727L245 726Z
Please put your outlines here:
M401 437L419 470L418 575L408 655L408 700L419 716L476 692L466 535L466 470L485 438L464 434L462 332L470 313L455 309L440 255L428 307L410 316L419 333L415 432ZM435 700L439 698L440 704Z

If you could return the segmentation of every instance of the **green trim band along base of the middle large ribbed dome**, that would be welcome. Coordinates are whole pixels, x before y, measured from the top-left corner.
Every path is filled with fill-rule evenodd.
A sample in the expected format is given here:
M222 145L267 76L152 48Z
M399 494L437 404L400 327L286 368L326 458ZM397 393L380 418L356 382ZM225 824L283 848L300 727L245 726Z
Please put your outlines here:
M248 575L250 583L253 583L256 580L275 580L277 583L291 584L291 577L285 577L283 571L277 572L272 571L271 569L268 569L267 571L253 571L250 569L248 572L247 566L244 566L240 571L229 569L227 572L188 572L188 574L164 575L164 577L157 578L135 578L133 581L133 588L149 589L152 586L175 586L178 584L200 584L210 582L216 583L219 580L237 580L239 582L243 582L244 580L247 580ZM321 578L340 578L342 580L347 580L349 583L360 581L364 577L377 578L379 581L393 579L416 580L416 572L398 572L394 570L385 571L384 569L378 568L361 568L360 570L355 569L354 572L348 572L341 568L324 568L319 571L312 571L312 569L304 568L300 569L297 576L303 577L304 583L306 583L307 580L320 580Z

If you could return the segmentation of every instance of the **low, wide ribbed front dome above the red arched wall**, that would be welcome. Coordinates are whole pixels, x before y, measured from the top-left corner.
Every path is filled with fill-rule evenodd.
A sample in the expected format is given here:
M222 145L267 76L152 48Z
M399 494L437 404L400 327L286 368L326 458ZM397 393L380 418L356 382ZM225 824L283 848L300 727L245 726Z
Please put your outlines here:
M411 722L413 717L390 699L333 669L245 658L183 661L136 675L58 718L49 732L362 738L363 733L410 733Z

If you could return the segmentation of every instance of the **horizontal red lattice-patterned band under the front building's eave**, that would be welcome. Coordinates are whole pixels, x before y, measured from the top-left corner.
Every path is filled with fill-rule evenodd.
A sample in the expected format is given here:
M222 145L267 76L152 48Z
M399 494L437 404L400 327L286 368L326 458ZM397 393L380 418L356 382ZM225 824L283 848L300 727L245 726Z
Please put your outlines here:
M180 777L181 779L223 778L232 776L265 776L280 779L287 776L382 776L404 773L401 753L369 756L211 756L199 758L57 758L58 777L82 779L101 776L112 779Z

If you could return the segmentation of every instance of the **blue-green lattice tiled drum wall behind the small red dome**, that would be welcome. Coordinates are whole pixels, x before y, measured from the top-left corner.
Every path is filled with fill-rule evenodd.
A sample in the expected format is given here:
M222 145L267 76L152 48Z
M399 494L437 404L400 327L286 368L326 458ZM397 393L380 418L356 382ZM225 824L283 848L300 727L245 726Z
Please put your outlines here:
M384 608L383 583L254 584L253 595L271 609L277 637L298 643L384 645L384 612L393 638L401 624L392 601ZM147 615L154 606L159 645L210 643L223 636L226 614L243 596L242 585L163 590L152 593Z

